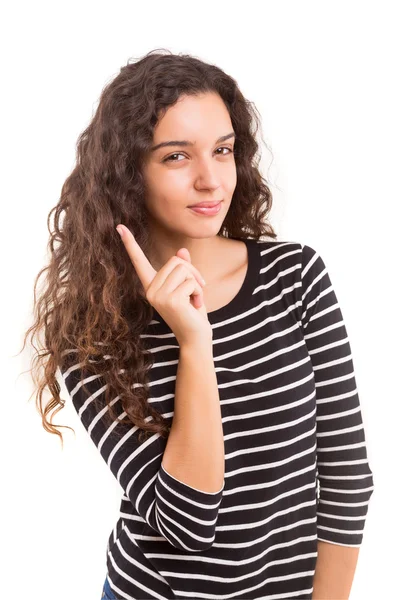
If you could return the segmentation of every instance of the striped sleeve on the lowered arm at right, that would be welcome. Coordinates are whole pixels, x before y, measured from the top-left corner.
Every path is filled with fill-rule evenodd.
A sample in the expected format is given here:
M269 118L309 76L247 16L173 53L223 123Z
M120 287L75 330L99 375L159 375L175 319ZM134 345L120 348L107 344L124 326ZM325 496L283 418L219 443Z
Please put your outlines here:
M326 266L302 248L301 327L316 387L318 539L360 546L374 490L353 360Z

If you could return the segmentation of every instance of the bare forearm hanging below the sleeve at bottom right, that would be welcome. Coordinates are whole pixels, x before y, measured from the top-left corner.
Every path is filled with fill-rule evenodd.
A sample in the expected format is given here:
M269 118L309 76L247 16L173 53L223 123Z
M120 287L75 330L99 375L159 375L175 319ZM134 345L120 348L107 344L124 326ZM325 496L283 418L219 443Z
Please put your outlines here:
M359 547L318 540L313 600L348 600L357 566Z

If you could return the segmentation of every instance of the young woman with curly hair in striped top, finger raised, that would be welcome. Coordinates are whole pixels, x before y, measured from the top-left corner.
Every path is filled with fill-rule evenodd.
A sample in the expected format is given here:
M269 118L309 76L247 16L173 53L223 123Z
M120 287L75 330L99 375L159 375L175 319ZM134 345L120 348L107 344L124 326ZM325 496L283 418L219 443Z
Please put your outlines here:
M258 125L221 69L151 52L53 209L38 402L62 441L60 368L123 488L103 598L350 593L374 487L351 349L323 259L266 222Z

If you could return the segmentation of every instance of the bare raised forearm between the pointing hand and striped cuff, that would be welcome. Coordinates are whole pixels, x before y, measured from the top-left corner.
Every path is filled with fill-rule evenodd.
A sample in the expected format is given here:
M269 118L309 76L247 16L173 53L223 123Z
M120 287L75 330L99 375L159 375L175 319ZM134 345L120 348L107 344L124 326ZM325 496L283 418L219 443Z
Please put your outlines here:
M223 486L225 447L212 340L180 348L174 418L162 464L201 491Z

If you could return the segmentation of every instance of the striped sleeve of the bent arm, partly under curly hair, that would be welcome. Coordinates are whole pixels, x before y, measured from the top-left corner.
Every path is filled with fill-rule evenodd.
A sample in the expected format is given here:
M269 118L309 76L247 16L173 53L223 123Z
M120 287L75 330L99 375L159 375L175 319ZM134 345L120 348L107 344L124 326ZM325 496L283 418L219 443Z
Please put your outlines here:
M139 444L139 430L133 424L107 426L102 418L108 410L105 400L103 408L94 405L94 398L104 399L104 381L101 375L87 374L87 394L81 372L77 363L61 374L81 422L137 513L175 548L190 552L210 548L225 483L220 491L209 493L170 475L161 464L167 440L153 434ZM119 396L112 404L120 419L127 417Z

